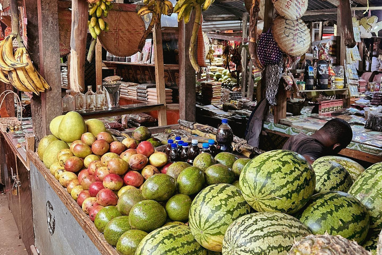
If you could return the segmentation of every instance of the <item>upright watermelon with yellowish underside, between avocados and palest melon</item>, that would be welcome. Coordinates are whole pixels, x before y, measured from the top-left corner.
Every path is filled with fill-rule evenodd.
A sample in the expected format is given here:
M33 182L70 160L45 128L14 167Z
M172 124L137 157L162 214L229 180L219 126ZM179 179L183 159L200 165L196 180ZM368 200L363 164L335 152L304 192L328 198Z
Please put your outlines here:
M221 252L228 226L250 210L237 187L223 183L210 185L192 201L189 217L192 235L204 248Z

